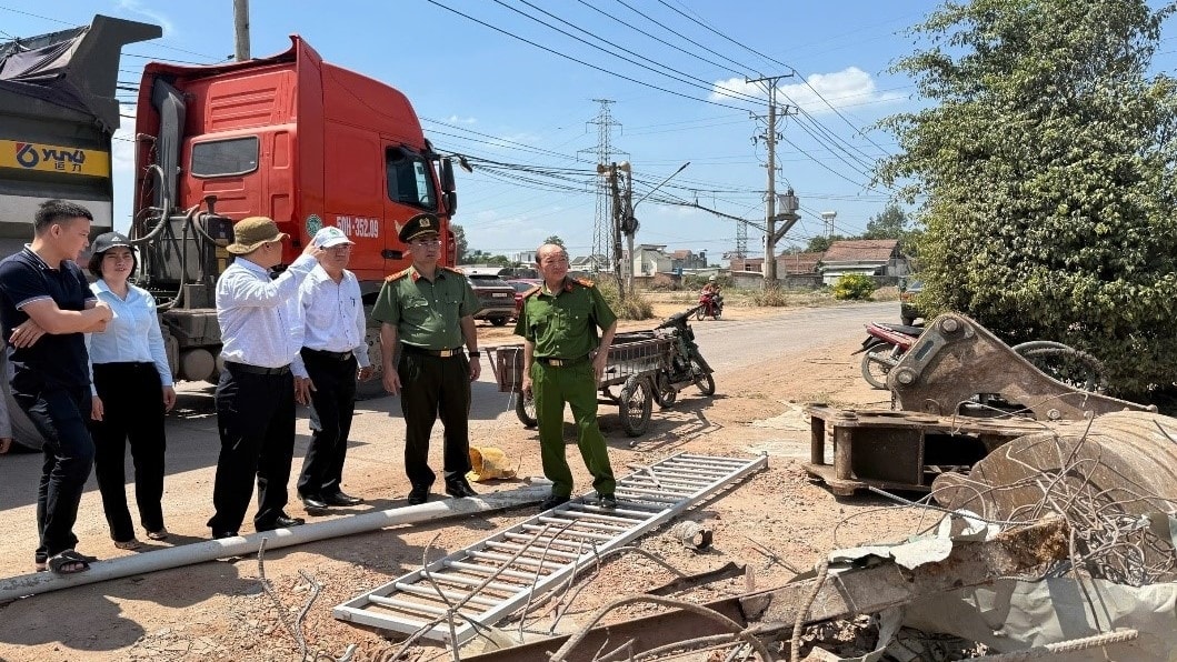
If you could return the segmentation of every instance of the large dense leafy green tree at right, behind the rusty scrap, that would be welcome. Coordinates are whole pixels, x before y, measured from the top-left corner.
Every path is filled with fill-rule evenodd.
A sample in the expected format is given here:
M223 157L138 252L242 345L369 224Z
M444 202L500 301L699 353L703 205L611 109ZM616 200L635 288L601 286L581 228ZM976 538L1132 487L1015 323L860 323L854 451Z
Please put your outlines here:
M879 179L924 200L924 300L1057 340L1131 396L1177 374L1177 86L1144 0L949 1L895 71L932 101L883 126Z

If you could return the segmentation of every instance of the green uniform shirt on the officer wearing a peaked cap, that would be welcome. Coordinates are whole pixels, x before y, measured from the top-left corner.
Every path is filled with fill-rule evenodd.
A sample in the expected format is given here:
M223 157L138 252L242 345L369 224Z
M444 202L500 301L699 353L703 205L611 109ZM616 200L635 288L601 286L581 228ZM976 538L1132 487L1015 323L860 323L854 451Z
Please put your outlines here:
M438 267L433 282L414 267L388 276L372 319L397 327L397 339L424 349L461 347L458 320L478 312L478 296L458 272Z

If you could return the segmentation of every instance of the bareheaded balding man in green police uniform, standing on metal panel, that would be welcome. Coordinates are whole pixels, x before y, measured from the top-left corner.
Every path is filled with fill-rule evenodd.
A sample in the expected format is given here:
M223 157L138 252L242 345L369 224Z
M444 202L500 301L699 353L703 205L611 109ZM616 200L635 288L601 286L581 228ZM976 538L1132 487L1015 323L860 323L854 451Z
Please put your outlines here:
M536 399L544 475L552 481L552 494L540 509L554 508L572 495L572 472L564 455L565 402L572 408L577 446L592 474L598 503L617 508L613 468L597 424L597 386L613 343L617 315L591 281L567 277L564 247L545 243L536 252L536 261L544 283L524 295L514 332L524 337L523 390Z

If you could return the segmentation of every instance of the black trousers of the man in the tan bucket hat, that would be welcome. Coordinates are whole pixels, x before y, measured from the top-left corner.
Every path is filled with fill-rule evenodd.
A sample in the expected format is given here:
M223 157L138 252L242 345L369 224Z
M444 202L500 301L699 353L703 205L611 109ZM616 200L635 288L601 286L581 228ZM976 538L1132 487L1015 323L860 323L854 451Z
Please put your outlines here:
M208 520L213 535L241 528L258 481L254 527L272 527L286 508L286 483L294 456L294 376L286 370L255 374L225 363L217 385L217 428L221 450Z

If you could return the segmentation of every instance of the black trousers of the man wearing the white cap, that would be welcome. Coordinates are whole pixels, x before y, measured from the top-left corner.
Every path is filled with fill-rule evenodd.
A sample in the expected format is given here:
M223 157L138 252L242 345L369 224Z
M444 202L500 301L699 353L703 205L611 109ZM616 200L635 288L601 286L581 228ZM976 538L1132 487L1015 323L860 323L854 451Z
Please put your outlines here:
M312 496L340 490L347 436L355 414L355 356L340 361L313 349L302 348L306 373L314 383L311 393L311 446L302 460L298 493Z

